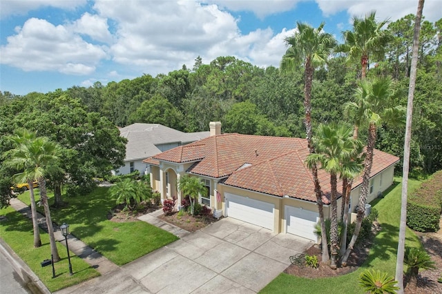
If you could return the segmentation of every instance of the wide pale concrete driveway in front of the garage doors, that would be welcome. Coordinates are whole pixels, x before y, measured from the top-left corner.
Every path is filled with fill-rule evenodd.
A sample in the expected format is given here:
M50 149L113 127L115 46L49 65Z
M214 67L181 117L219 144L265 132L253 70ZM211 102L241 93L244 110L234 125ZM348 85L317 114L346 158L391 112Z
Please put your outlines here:
M256 293L312 244L227 217L59 293Z

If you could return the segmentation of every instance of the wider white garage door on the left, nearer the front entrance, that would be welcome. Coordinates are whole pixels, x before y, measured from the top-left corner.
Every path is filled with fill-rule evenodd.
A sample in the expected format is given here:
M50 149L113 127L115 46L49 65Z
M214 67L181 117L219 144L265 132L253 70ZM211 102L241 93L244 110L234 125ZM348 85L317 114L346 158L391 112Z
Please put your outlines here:
M228 217L240 219L243 222L256 224L256 226L262 226L273 231L275 222L274 204L230 193L225 193L224 196Z

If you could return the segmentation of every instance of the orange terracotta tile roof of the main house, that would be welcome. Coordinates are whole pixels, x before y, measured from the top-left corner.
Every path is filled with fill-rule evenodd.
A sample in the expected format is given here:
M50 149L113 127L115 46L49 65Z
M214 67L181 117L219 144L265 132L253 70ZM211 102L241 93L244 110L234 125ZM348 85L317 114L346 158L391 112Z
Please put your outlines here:
M211 136L146 159L183 163L197 161L187 171L214 178L227 177L223 184L283 197L316 202L314 182L305 164L307 140L299 138L224 134ZM398 157L374 152L372 176L392 166ZM244 166L245 164L245 166ZM318 170L323 202L329 204L329 175ZM358 177L354 186L361 184ZM338 182L341 192L342 183Z

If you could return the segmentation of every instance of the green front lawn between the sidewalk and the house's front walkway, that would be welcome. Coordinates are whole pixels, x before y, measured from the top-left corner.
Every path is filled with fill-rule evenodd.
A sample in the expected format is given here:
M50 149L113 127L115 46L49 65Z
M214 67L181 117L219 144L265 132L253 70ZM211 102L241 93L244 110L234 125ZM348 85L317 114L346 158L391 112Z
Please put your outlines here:
M20 195L19 199L30 203L28 192ZM38 199L36 193L36 201ZM108 195L108 188L100 187L88 195L64 198L64 201L68 202L66 208L51 208L52 221L69 224L75 237L119 266L178 239L146 222L117 223L108 220L109 211L116 205L116 199Z

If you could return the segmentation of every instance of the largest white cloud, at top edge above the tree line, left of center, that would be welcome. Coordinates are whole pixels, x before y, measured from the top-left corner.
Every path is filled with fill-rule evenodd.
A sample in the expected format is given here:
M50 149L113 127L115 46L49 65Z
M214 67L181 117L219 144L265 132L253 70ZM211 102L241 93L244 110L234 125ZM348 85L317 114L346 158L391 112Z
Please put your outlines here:
M218 44L239 35L231 14L195 1L96 1L94 8L117 23L113 60L153 74L207 56Z

